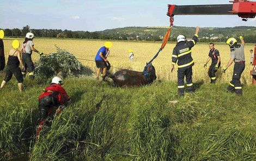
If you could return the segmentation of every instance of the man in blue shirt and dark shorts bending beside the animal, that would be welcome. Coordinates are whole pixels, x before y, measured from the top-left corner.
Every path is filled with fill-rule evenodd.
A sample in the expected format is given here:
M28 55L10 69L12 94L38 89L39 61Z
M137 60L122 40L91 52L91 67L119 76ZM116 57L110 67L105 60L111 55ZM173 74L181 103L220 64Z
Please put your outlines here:
M106 75L107 65L108 65L106 54L107 54L107 51L109 51L110 47L112 47L112 43L107 41L107 42L105 42L104 46L101 47L96 54L95 63L97 66L97 71L96 71L96 79L97 80L99 80L101 68L103 69L103 78L105 78L104 76Z

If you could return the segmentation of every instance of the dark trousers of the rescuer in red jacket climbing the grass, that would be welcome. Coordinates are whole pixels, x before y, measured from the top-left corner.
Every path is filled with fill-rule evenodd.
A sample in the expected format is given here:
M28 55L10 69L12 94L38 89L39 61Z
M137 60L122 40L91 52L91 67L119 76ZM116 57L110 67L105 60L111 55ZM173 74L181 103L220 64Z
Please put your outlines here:
M51 114L51 109L57 106L57 98L52 95L45 96L38 101L39 123L45 121ZM46 122L47 123L47 122Z

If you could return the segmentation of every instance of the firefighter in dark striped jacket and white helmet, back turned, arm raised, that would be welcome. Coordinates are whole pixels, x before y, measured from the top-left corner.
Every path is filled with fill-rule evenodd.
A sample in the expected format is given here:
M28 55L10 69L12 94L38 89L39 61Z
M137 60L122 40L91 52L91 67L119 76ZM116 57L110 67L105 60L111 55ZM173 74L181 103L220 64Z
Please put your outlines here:
M196 27L196 34L194 34L192 40L190 41L186 41L184 35L179 35L177 37L178 43L173 49L171 72L173 72L174 65L178 61L178 94L180 96L184 96L185 94L185 76L188 92L194 92L194 87L192 83L192 66L194 65L194 61L191 57L191 48L197 44L198 32L199 27Z

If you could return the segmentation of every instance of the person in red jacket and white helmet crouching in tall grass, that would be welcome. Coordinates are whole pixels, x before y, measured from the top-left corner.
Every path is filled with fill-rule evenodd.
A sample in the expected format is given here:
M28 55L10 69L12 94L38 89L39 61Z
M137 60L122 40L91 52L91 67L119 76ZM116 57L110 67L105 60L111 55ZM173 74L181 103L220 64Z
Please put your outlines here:
M56 113L62 112L63 108L70 103L70 98L66 94L65 89L61 86L63 81L59 77L53 77L52 83L50 86L45 88L42 94L38 97L38 107L39 107L39 124L36 128L36 136L39 136L39 133L42 129L47 117L51 114L51 109L53 107L59 107L56 110Z

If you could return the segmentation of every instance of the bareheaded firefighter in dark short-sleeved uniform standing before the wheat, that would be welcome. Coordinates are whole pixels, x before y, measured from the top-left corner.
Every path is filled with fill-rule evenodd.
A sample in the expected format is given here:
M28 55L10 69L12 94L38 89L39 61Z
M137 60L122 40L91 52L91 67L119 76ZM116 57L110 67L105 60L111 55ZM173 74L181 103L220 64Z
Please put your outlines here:
M214 47L214 42L210 42L209 44L209 57L204 64L204 67L211 60L211 66L209 67L208 75L211 79L211 83L216 83L216 75L215 73L218 71L218 68L221 66L221 57L220 52Z

